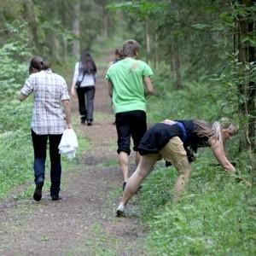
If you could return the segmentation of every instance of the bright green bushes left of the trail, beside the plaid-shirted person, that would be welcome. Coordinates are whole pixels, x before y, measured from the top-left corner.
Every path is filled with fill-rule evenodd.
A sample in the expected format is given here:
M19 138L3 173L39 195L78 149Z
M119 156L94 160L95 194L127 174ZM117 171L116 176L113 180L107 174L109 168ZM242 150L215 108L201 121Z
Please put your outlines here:
M32 146L29 133L32 102L20 104L17 95L27 76L26 24L6 24L13 37L0 48L0 197L17 184L32 180Z

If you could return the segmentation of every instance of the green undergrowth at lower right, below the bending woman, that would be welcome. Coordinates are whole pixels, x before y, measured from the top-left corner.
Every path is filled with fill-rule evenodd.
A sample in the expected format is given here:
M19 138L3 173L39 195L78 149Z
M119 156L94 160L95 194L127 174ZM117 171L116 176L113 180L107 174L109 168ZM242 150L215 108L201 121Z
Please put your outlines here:
M193 166L182 201L172 205L175 177L173 167L158 166L143 184L141 215L151 229L147 244L153 255L256 253L255 201L245 183L205 158Z

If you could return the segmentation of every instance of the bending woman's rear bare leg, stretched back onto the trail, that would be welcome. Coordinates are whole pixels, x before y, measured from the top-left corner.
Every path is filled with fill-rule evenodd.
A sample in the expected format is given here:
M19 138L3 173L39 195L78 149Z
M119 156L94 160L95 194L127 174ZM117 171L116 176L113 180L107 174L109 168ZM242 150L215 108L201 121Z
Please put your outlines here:
M119 203L117 210L118 216L122 215L125 205L131 199L132 195L137 192L137 189L143 182L143 179L147 177L148 173L151 171L151 168L154 166L155 161L158 159L158 154L148 154L141 157L136 171L133 172L131 177L128 179L128 182L126 183L124 195Z

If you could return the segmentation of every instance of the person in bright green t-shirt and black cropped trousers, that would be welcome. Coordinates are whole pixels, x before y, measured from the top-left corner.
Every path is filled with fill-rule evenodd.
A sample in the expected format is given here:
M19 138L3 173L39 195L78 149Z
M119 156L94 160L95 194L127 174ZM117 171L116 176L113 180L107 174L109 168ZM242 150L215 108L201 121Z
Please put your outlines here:
M108 92L112 97L118 134L119 167L124 177L123 189L128 180L128 158L131 153L131 137L136 151L136 164L140 154L137 146L147 131L146 96L153 94L150 76L151 68L144 61L138 61L140 45L135 40L123 44L124 59L109 67L106 74Z

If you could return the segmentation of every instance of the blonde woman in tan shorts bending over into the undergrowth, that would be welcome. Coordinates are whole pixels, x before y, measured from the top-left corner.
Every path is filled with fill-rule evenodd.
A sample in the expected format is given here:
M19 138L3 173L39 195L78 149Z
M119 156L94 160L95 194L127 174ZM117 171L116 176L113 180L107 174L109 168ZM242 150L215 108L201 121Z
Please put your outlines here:
M210 146L219 164L227 172L235 172L235 167L226 158L224 142L236 134L236 125L229 119L221 119L213 124L191 119L165 121L153 125L143 136L138 146L142 158L136 172L129 178L122 200L117 208L117 216L123 216L127 202L137 192L143 179L161 158L170 161L177 169L173 201L177 202L191 173L190 162L195 160L193 152L197 148Z

